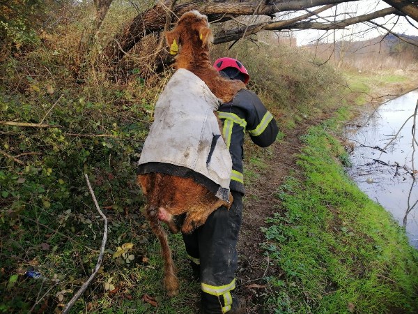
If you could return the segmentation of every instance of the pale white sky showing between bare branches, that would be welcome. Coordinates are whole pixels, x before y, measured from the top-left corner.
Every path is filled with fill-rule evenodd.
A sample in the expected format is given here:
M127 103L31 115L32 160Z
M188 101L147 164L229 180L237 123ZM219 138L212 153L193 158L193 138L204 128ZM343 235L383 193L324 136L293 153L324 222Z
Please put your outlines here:
M388 7L389 5L385 3L385 1L362 0L350 3L342 3L339 6L336 6L336 8L334 7L330 10L326 10L323 13L320 13L320 16L328 18L329 20L334 20L334 17L332 15L334 15L334 12L336 10L336 12L339 14L337 19L342 20L344 17L343 13L348 13L345 15L346 18L348 18L357 15L372 13L376 10L382 10L383 8ZM315 8L311 8L310 10L313 11L315 10ZM298 15L300 14L301 13L299 13ZM306 12L302 14L306 14ZM385 24L385 27L387 29L391 29L396 33L405 33L408 35L418 36L418 29L412 27L412 25L410 25L404 17L399 17L398 22L394 26L397 19L398 17L396 15L388 15L387 17L380 17L376 20L373 20L373 22ZM417 22L415 22L411 18L409 18L409 20L410 22L412 22L412 24L418 27ZM341 38L343 38L345 40L357 41L367 40L385 33L387 33L385 29L376 29L375 25L361 23L347 27L344 30L328 31L327 33L325 31L316 30L294 31L293 36L297 38L297 45L307 45L309 43L316 42L318 38L320 38L320 40L325 43L332 43L334 41L334 36L335 40L341 40Z

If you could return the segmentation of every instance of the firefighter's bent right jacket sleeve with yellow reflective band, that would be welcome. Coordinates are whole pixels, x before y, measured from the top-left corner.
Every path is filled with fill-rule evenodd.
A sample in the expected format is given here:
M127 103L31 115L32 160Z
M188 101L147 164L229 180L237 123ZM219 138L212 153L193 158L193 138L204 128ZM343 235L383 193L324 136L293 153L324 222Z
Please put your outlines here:
M268 147L276 140L279 129L272 114L252 91L243 89L233 100L246 112L247 132L254 144Z

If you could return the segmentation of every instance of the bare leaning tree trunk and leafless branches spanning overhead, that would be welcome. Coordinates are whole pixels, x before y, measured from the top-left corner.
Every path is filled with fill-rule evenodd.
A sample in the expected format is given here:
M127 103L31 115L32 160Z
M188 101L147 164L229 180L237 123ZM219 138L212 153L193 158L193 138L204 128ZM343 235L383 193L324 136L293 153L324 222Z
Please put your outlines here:
M353 0L207 0L173 1L157 0L155 5L139 13L125 29L107 45L105 54L113 61L119 61L144 36L158 33L167 28L167 17L176 22L188 10L199 10L208 15L212 24L229 22L223 31L215 33L215 44L234 42L259 31L283 31L318 29L330 31L345 29L353 24L367 23L369 27L385 28L382 22L373 22L379 17L401 17L413 27L418 22L418 1L385 0L372 1L366 12L357 10L359 3ZM389 6L387 6L389 5ZM345 13L341 14L341 6ZM340 8L337 13L336 8ZM372 23L369 23L372 22ZM414 44L413 42L410 42Z

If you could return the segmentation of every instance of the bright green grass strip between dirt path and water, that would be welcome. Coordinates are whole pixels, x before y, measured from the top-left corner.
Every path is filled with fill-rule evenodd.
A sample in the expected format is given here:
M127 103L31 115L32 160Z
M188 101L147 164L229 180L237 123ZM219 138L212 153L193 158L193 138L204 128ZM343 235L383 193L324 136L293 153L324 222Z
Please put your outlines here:
M418 253L390 214L341 167L331 135L339 118L302 138L297 165L277 191L280 207L263 230L280 278L268 313L417 313Z

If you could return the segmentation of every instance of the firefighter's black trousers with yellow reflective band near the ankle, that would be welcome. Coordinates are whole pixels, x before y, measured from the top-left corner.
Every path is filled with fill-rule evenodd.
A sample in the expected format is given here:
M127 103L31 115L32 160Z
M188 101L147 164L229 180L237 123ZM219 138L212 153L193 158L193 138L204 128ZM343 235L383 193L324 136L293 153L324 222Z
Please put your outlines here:
M226 313L231 310L237 269L238 233L242 218L242 194L231 191L230 209L219 207L206 223L183 240L192 267L201 281L201 306L204 313Z

